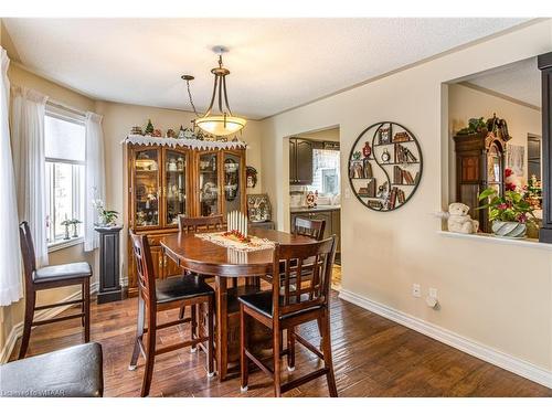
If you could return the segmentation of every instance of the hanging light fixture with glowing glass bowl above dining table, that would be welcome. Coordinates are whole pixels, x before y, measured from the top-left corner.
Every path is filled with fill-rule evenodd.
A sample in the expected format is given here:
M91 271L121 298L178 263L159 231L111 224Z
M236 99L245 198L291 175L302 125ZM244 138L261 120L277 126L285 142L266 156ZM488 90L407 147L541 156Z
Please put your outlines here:
M226 93L226 76L230 75L230 71L224 67L222 63L222 54L227 52L227 49L224 46L215 46L213 47L213 52L219 55L219 67L213 67L211 70L211 73L214 75L214 85L211 103L209 104L205 115L200 116L193 105L192 94L190 92L190 81L193 81L194 77L191 75L182 75L181 77L185 81L190 105L198 116L198 118L193 120L193 124L206 134L223 137L237 132L247 121L244 118L232 115L232 110L230 109L229 96ZM215 103L219 108L217 114L213 112Z

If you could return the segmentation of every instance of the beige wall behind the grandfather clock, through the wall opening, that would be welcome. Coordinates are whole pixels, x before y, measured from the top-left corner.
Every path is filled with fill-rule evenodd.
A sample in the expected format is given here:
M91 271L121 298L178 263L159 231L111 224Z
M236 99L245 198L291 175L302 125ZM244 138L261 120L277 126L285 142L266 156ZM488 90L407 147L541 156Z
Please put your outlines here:
M535 68L537 71L537 68ZM540 110L521 105L488 93L476 91L461 84L448 85L448 136L449 136L449 198L456 200L455 180L456 163L454 157L453 136L468 125L469 118L492 117L496 113L499 118L508 121L508 131L511 139L508 144L526 147L524 173L519 178L521 185L527 184L527 136L542 135L542 114Z

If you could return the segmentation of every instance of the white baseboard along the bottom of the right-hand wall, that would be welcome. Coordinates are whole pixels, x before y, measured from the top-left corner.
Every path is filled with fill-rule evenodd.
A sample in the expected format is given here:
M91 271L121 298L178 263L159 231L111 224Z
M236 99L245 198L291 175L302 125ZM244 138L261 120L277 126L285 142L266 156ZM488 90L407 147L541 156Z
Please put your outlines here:
M352 291L341 289L339 297L463 352L552 389L552 371L544 370L531 362L523 361L469 338L461 337L458 333L413 317L412 315L378 304L371 299L353 294Z

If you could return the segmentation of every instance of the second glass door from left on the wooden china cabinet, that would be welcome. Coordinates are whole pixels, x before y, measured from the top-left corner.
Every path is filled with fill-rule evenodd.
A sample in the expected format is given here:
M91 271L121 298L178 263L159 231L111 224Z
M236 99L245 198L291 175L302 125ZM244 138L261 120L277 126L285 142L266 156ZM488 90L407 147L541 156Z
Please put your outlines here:
M167 150L164 152L164 222L178 224L179 214L187 212L187 157L185 153Z

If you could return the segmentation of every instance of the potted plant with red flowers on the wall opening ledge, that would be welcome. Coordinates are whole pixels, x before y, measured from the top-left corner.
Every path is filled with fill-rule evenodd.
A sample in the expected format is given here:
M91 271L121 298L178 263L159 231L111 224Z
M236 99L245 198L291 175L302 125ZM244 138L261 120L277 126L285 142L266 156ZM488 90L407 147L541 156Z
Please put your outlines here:
M523 238L528 223L534 220L533 209L526 194L507 190L499 195L496 188L489 187L479 194L479 201L487 204L477 209L489 209L492 233L500 237Z

